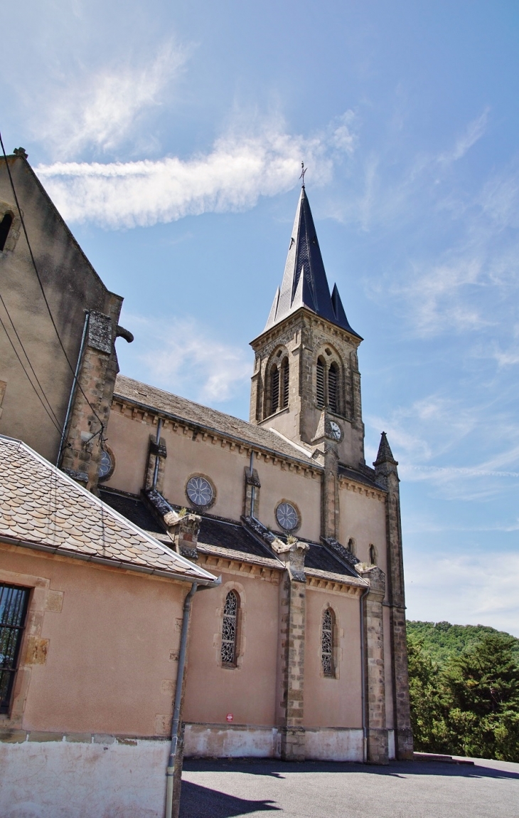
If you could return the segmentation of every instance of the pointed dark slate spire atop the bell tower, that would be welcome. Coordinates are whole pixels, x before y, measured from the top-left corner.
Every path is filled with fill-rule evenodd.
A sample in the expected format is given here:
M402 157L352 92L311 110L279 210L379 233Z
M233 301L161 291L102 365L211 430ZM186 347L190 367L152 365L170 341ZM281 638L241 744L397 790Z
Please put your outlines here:
M300 307L311 309L332 324L342 326L342 329L360 338L348 323L337 285L334 285L330 297L323 258L304 185L293 222L283 283L275 294L265 329L275 326Z

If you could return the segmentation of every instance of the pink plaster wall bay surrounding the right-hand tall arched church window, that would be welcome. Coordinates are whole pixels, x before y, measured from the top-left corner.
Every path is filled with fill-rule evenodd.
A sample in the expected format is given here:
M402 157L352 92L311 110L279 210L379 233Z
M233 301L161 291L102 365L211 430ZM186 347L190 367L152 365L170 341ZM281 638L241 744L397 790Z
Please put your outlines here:
M321 628L324 610L335 614L336 678L323 674ZM357 596L306 588L306 727L362 727L360 604Z

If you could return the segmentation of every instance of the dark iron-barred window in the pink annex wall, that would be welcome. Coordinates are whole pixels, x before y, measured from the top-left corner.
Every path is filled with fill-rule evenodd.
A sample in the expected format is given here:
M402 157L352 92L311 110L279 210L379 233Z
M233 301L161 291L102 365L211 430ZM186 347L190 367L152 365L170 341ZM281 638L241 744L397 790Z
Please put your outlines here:
M18 669L29 588L0 584L0 712L9 712Z

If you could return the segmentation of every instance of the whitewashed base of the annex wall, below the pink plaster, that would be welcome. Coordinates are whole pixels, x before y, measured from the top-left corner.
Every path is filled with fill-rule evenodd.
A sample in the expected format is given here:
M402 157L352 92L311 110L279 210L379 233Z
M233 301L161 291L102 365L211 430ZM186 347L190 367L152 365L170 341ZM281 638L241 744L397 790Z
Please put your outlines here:
M0 742L2 818L163 818L168 741Z

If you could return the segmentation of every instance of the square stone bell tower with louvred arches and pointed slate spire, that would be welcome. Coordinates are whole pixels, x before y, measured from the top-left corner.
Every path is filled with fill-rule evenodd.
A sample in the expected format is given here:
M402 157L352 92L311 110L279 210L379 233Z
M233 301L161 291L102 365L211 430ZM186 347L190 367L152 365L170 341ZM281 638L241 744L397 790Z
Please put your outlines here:
M250 422L338 461L364 465L357 348L337 285L330 295L304 185L281 288L255 353Z

